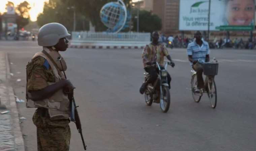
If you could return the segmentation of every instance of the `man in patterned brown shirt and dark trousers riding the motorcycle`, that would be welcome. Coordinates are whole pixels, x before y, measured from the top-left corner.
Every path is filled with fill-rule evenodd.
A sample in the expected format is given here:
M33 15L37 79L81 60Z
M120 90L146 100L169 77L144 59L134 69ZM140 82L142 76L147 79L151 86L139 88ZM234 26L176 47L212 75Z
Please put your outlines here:
M152 43L149 45L146 45L145 49L142 53L142 60L143 60L143 66L146 72L150 74L150 78L145 81L140 89L140 94L143 94L150 83L154 83L158 77L158 69L152 65L153 62L158 62L161 66L163 66L164 63L164 56L167 57L167 59L170 61L171 66L174 67L175 64L172 62L171 56L168 53L168 50L166 47L158 42L159 39L159 33L153 32L152 33ZM168 73L168 84L170 89L170 82L171 82L171 76Z

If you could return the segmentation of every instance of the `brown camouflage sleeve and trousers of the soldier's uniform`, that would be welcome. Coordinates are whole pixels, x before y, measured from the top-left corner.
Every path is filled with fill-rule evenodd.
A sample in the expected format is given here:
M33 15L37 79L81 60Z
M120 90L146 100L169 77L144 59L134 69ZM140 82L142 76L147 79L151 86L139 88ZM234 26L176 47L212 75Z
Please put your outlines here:
M41 90L47 82L55 82L54 73L43 57L34 58L27 65L28 91ZM68 151L70 144L69 119L50 119L46 108L38 108L33 116L37 128L38 151Z

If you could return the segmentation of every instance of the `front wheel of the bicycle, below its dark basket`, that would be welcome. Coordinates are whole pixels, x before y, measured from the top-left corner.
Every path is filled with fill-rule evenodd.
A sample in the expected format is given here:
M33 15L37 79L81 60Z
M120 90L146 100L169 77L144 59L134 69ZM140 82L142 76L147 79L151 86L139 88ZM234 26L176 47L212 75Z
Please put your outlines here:
M217 105L217 90L214 79L208 79L208 97L212 108L216 108Z

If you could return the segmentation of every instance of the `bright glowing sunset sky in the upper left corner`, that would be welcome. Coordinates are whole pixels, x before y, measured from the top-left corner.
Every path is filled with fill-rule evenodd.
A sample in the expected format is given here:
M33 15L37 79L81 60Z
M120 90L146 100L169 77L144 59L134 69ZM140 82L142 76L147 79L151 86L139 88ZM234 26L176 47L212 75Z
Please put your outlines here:
M15 6L19 5L21 2L24 2L25 0L0 0L0 12L5 12L5 4L11 1L14 3ZM30 4L30 19L32 21L36 21L37 15L43 11L43 4L45 1L49 0L26 0Z

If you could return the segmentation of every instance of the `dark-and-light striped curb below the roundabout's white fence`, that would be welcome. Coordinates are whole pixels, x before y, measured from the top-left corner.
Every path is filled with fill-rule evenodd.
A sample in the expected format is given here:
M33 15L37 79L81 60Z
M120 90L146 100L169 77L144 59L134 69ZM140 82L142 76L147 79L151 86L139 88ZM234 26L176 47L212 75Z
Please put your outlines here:
M78 48L78 49L144 49L144 46L88 46L88 45L71 45L70 48Z

